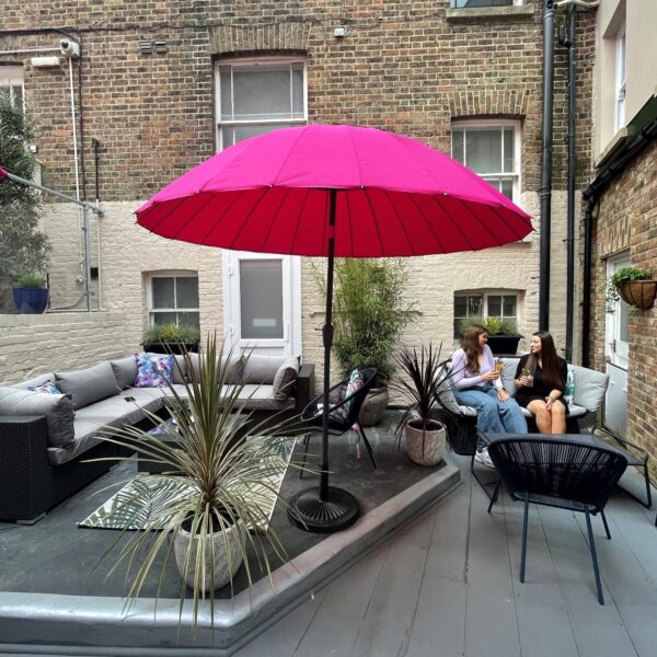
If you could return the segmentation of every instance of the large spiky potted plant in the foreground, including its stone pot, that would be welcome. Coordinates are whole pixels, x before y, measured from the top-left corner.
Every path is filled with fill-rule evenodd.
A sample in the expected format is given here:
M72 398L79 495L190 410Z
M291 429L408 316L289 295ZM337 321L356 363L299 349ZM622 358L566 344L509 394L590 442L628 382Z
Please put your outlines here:
M270 526L260 535L252 535L249 528L266 526L272 496L279 499L278 488L270 482L288 466L291 446L289 438L279 436L283 423L253 426L251 415L239 401L243 385L226 385L231 354L224 357L223 349L217 349L215 337L208 337L198 369L193 367L188 353L183 357L189 378L183 384L184 394L178 394L173 385L168 390L175 438L130 426L107 427L103 439L137 452L138 459L162 464L172 483L185 484L189 492L153 508L143 531L135 532L126 542L123 542L124 529L99 563L118 546L108 575L122 563L136 564L136 573L128 572L126 576L130 583L129 606L153 568L160 572L158 581L161 584L166 564L175 553L183 581L192 589L196 627L200 600L209 598L211 612L214 591L227 584L232 590L233 576L242 562L251 586L256 566L270 575L272 556L267 546L276 558L286 558L285 549ZM152 414L147 415L153 422L159 420ZM137 492L130 504L138 503L139 496ZM130 518L126 522L129 523ZM251 560L247 550L255 555ZM253 560L257 563L250 563ZM185 599L186 588L182 584L181 615Z

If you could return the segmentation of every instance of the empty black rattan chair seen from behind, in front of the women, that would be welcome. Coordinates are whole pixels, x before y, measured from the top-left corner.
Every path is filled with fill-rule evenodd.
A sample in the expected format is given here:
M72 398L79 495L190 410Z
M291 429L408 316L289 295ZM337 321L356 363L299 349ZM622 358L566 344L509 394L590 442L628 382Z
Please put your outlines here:
M529 504L579 511L586 516L598 601L604 604L590 516L600 514L607 538L611 539L603 509L627 468L627 459L611 448L544 436L494 440L488 454L511 499L525 502L520 581L525 581Z

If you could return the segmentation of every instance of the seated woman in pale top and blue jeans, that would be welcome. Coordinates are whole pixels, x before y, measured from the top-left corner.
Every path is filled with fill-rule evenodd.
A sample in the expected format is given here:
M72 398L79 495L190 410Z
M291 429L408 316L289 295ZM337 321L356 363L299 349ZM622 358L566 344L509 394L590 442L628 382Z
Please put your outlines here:
M476 425L485 433L527 434L522 410L502 385L484 326L470 326L452 356L451 377L459 404L476 408Z

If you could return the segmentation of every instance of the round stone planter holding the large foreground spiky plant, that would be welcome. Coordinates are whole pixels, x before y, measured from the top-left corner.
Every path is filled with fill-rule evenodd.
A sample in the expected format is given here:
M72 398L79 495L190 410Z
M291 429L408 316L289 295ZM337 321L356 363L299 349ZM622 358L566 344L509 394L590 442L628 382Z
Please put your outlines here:
M245 531L244 526L240 522L239 525L226 530L226 532L218 531L211 534L210 537L206 538L207 541L212 541L215 544L215 578L212 583L210 581L210 557L212 554L211 545L208 544L206 546L206 586L204 589L206 592L226 586L242 565L242 553L240 551L240 542L235 532L235 527L238 528L237 531ZM188 531L181 529L177 535L175 537L173 546L175 552L175 563L177 564L181 577L183 577L188 587L194 588L194 575L196 570L196 551L198 550L200 539L198 537L194 538L195 545L192 546L189 561L187 564L187 572L183 573L183 569L185 567L185 557L187 555L187 551L189 550L191 540L192 534ZM230 551L230 560L228 557L228 551Z

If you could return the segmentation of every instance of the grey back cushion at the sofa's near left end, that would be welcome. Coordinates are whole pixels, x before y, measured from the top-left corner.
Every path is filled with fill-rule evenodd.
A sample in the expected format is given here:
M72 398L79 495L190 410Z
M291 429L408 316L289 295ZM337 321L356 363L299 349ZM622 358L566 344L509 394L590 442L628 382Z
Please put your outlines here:
M73 405L66 394L0 388L0 415L45 415L50 447L64 447L73 441Z

